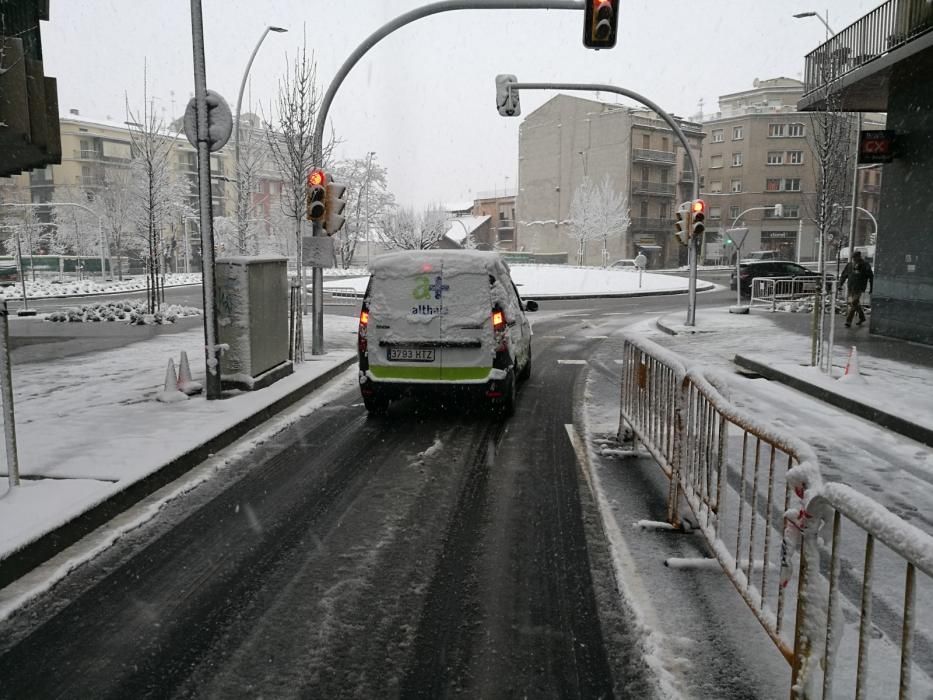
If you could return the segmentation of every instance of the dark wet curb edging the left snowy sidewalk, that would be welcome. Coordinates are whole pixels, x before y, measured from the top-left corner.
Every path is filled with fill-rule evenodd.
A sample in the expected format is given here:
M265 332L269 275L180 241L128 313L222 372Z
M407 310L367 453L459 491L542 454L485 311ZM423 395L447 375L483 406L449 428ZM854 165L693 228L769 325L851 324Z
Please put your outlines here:
M355 355L348 357L340 364L327 370L324 374L315 377L307 384L297 387L292 392L269 404L265 408L260 409L253 415L230 426L207 442L198 445L189 452L172 460L161 469L152 472L139 481L127 485L125 489L113 494L90 510L75 516L68 522L59 525L54 530L45 533L22 549L13 552L5 559L0 559L0 588L4 588L21 578L32 569L45 563L67 547L70 547L85 535L93 532L101 525L136 505L150 494L190 471L207 459L209 455L229 446L253 428L266 422L315 389L326 384L356 361L357 358Z

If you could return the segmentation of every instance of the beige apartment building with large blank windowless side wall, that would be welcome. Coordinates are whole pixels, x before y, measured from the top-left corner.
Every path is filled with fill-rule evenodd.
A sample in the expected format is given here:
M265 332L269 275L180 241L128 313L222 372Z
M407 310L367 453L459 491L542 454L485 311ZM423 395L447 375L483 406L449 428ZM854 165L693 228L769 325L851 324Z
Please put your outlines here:
M699 124L680 121L699 154ZM690 196L693 175L667 124L651 112L558 95L519 127L516 229L518 250L570 253L578 248L570 222L574 193L584 181L608 177L624 195L630 224L607 240L610 259L643 250L652 266L677 264L683 251L673 238L673 210ZM602 262L602 241L590 241L586 264Z

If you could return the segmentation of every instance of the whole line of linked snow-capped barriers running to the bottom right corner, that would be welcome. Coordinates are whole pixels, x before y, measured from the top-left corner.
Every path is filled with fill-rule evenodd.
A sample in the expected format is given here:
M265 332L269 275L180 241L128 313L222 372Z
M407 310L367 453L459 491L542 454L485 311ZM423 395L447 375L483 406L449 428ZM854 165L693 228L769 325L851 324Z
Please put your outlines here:
M920 611L933 616L933 537L847 486L824 484L813 449L732 405L724 377L688 369L634 334L625 335L622 372L620 439L640 441L670 479L672 526L683 527L680 506L689 507L790 664L791 697L933 692L933 624L916 623ZM873 587L876 541L886 575ZM890 580L895 571L905 572L902 586ZM929 586L921 604L918 572Z

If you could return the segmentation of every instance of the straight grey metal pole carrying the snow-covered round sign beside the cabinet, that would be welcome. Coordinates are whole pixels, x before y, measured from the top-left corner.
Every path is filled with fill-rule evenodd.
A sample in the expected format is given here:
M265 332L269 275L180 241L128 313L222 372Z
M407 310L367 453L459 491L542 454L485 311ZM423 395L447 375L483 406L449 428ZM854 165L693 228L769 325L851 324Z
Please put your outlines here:
M204 382L208 400L219 399L220 347L214 308L214 217L211 205L211 154L207 130L207 73L204 65L204 21L201 0L191 0L191 37L194 49L194 99L197 113L198 195L201 220L201 270L204 299Z

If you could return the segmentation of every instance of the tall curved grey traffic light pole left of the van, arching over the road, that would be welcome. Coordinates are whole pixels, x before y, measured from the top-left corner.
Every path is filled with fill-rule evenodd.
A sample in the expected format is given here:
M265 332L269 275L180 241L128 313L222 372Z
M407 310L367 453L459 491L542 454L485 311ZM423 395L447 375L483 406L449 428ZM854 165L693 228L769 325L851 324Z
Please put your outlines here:
M193 2L194 0L192 0ZM455 10L578 10L586 9L584 0L441 0L424 7L418 7L410 12L405 12L395 19L387 22L382 27L370 34L363 40L356 49L353 50L347 60L343 62L340 69L330 81L327 92L321 100L321 106L318 109L314 121L314 142L312 147L312 167L324 167L324 126L327 122L327 113L330 111L331 103L340 89L344 79L350 73L353 66L366 55L366 53L380 41L396 29L411 24L415 20L442 12L452 12ZM696 166L694 166L694 172ZM314 223L312 235L323 236L324 227L319 223ZM324 353L324 270L315 266L311 271L311 283L313 286L311 297L311 312L314 315L311 326L311 354L322 355Z

